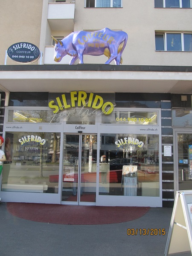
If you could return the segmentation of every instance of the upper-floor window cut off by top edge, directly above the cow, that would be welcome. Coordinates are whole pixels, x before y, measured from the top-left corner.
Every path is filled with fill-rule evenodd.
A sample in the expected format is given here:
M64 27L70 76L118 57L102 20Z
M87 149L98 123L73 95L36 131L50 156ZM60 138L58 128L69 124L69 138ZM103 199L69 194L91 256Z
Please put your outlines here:
M86 0L86 7L122 7L122 0Z

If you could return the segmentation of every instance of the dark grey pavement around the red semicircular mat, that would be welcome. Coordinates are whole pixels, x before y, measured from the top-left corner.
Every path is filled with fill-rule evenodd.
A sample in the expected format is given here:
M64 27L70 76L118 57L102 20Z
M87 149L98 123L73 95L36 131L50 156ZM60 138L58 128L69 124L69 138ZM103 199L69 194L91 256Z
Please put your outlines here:
M1 203L0 256L163 256L171 216L172 208L151 208L119 224L61 225L14 217ZM144 228L165 229L166 235L127 235L127 229Z

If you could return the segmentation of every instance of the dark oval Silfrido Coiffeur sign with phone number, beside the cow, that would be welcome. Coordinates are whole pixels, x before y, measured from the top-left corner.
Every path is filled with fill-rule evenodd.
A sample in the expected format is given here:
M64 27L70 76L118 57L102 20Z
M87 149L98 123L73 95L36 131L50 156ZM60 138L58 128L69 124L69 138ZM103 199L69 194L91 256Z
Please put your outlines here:
M7 54L12 60L23 63L35 62L40 57L38 47L27 42L12 44L8 48Z

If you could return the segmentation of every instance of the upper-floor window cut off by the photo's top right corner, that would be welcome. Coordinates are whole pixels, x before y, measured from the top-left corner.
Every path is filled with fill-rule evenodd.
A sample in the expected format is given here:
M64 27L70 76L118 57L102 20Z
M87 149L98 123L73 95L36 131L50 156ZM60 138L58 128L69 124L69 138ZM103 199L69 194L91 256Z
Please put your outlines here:
M154 0L155 8L191 8L191 0Z

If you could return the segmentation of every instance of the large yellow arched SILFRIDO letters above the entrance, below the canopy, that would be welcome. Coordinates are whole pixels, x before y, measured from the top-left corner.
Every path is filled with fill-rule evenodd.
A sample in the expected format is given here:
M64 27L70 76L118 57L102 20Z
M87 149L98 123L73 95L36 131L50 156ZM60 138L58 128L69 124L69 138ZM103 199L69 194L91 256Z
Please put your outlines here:
M87 107L94 109L101 109L102 113L105 115L111 114L115 105L112 102L105 102L101 96L94 95L94 93L90 93L89 98L87 99L87 93L84 91L72 91L70 92L71 105L67 103L67 99L65 94L57 97L56 100L52 100L49 102L49 108L54 109L53 113L58 113L59 110L64 110L72 107ZM87 100L87 101L86 101Z

